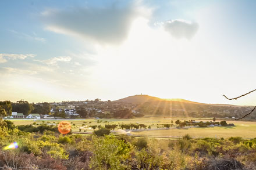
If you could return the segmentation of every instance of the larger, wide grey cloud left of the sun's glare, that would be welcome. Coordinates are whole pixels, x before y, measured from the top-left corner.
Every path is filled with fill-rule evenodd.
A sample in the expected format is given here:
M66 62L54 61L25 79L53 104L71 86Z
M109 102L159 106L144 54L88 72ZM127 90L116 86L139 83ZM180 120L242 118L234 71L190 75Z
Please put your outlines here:
M42 12L42 21L51 31L91 38L104 44L118 44L126 39L138 13L132 4L125 7L49 9Z

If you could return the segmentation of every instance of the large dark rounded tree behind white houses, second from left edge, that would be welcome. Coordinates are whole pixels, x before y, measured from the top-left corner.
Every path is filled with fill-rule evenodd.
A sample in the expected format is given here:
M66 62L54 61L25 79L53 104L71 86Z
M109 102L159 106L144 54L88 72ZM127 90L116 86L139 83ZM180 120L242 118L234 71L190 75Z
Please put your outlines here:
M27 101L17 101L17 103L12 103L12 111L16 111L17 113L23 113L24 115L29 115L33 110L32 104L29 104Z

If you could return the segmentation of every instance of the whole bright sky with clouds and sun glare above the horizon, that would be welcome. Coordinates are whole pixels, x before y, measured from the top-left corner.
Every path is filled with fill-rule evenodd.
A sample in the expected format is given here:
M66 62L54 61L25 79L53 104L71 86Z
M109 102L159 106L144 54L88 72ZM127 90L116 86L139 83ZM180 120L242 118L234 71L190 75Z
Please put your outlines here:
M0 100L256 104L256 1L0 1Z

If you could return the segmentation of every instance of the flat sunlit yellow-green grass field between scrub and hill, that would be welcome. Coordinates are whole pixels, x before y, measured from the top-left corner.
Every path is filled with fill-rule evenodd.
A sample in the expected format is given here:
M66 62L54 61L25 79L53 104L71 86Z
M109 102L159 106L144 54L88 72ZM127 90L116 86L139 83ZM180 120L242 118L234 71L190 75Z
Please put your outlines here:
M81 126L87 126L86 131L90 132L93 129L88 129L90 125L102 125L104 126L106 123L108 124L145 124L151 125L151 129L157 128L160 124L170 124L171 120L173 120L173 124L175 121L179 119L183 120L195 120L195 121L211 121L212 119L195 119L195 118L186 118L186 117L144 117L144 118L135 118L135 119L84 119L84 120L66 120L72 124L72 131L79 131ZM58 124L59 121L55 120L11 120L15 125L29 125L33 124ZM44 121L44 122L43 122ZM100 122L97 122L100 121ZM221 120L216 120L221 121ZM209 127L209 128L186 128L186 129L161 129L154 131L140 131L140 132L131 132L132 135L141 135L141 136L158 136L158 137L173 137L180 138L185 134L189 134L193 138L229 138L231 136L241 136L244 139L256 138L256 122L249 121L227 121L227 123L233 123L235 126L225 126L225 127Z

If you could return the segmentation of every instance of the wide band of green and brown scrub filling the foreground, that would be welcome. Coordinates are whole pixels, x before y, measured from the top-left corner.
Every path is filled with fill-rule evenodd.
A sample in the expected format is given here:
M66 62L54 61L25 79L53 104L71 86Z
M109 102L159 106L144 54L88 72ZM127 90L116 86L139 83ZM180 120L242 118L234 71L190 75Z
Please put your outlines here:
M192 139L189 134L177 140L104 134L62 135L48 125L26 130L20 127L1 121L2 168L253 169L256 166L256 139ZM102 133L109 131L105 127L100 129ZM17 142L19 147L3 150L12 142Z

